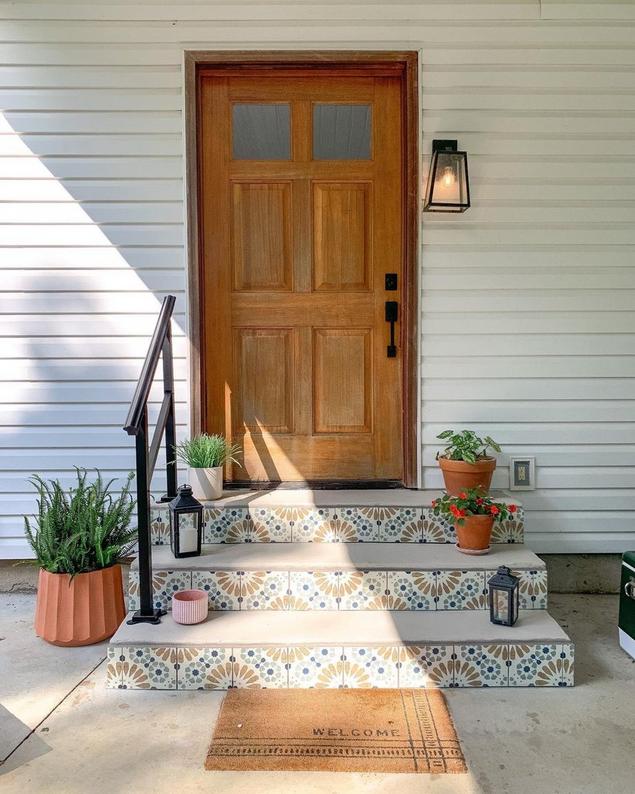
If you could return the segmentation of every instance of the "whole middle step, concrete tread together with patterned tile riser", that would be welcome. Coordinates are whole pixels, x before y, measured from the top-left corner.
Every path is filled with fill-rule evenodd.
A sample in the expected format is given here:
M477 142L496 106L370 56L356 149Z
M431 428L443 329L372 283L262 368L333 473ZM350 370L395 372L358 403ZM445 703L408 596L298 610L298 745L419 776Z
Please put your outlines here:
M210 544L200 557L153 549L155 605L191 587L214 610L460 610L487 608L487 581L500 565L520 577L524 609L547 606L544 562L522 544L493 545L472 557L450 544ZM139 607L139 573L130 571L129 608Z

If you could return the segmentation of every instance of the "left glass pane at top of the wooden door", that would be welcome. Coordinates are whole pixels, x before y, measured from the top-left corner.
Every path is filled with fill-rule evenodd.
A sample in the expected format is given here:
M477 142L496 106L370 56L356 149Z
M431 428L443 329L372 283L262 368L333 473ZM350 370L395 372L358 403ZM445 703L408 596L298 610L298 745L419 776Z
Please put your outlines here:
M289 105L233 105L232 157L234 160L289 160Z

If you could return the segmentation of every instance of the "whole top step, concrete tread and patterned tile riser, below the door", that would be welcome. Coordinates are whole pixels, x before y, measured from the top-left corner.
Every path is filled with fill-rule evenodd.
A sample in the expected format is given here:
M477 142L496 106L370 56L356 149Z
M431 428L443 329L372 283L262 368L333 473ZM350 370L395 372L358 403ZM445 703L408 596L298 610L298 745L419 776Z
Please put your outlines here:
M440 491L276 489L226 491L205 503L205 543L455 543L454 527L432 513ZM492 496L518 505L513 519L494 525L494 543L522 543L524 515L518 499L504 491ZM152 542L169 545L169 510L152 511Z

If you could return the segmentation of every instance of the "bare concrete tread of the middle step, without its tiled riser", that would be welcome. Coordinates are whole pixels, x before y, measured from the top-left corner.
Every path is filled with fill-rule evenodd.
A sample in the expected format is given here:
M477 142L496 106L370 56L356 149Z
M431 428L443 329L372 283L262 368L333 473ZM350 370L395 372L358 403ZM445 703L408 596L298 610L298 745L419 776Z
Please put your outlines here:
M544 570L521 543L494 544L489 554L461 554L450 543L212 543L200 557L175 558L169 546L152 548L154 570ZM138 568L138 560L132 563Z

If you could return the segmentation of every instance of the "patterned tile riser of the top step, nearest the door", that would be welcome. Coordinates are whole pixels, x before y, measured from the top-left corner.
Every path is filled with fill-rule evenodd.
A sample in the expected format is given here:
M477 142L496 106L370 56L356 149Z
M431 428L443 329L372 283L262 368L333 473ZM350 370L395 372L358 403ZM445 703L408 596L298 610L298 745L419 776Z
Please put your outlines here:
M454 527L430 507L205 508L204 543L456 543ZM493 543L523 542L523 510L497 522ZM169 545L168 508L153 508L152 542Z

